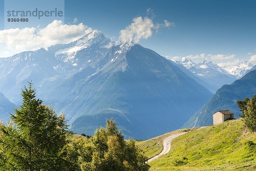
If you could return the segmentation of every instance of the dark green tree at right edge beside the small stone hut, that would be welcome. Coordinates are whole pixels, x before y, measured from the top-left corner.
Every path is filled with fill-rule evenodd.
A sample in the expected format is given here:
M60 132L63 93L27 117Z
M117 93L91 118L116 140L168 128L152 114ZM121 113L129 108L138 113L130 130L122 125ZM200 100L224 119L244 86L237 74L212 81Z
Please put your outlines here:
M241 109L244 125L251 132L256 132L256 95L252 99L245 98L244 101L237 101L237 104Z

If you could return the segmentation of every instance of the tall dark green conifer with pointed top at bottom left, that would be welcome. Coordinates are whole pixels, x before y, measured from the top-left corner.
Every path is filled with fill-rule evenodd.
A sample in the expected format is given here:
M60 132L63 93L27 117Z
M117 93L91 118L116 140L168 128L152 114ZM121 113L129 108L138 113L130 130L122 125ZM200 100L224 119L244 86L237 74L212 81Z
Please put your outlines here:
M68 141L64 115L36 99L32 83L22 90L22 104L11 114L11 122L0 124L0 170L70 170L65 150Z

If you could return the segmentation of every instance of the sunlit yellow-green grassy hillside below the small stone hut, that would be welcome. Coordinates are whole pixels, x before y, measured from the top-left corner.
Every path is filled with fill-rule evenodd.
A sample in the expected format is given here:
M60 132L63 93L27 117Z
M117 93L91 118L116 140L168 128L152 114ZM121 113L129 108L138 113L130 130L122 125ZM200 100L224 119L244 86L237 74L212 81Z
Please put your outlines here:
M161 151L157 143L163 136L137 145L151 157ZM171 151L150 165L151 171L255 171L256 133L244 128L241 119L195 129L176 138Z

